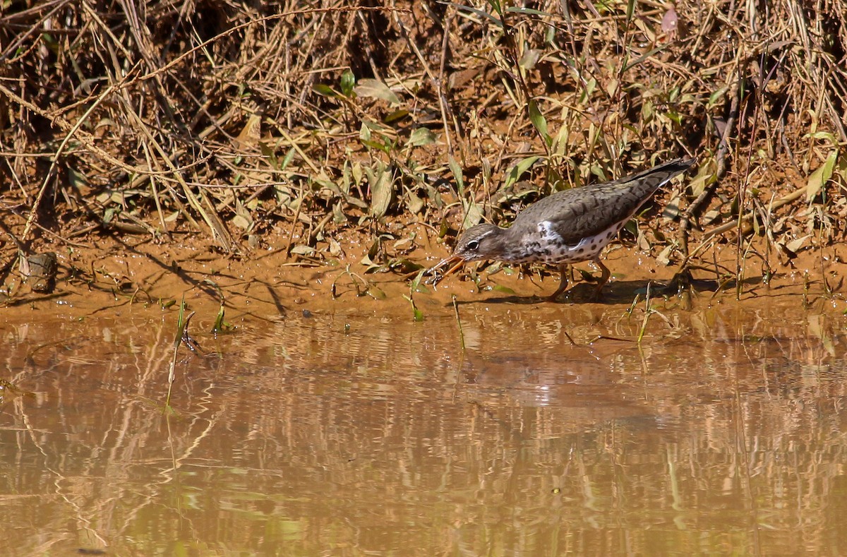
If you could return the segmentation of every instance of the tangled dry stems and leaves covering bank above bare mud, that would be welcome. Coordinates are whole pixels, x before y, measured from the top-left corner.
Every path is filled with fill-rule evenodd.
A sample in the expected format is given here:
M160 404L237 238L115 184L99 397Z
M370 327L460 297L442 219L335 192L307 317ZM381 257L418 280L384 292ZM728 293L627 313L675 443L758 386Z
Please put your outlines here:
M844 237L842 0L2 9L4 276L85 234L313 260L366 234L369 270L407 272L408 223L507 223L678 156L698 172L635 238L662 260L732 243L767 276Z

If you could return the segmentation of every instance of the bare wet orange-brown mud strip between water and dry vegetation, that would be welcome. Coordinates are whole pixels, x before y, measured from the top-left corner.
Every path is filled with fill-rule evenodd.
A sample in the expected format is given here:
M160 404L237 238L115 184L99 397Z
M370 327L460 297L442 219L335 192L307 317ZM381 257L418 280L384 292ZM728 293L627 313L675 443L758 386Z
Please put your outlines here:
M556 290L558 277L542 266L522 269L470 264L464 273L448 277L437 287L421 284L412 292L417 273L414 266L430 267L449 253L449 246L432 238L431 231L427 234L425 227L416 231L417 240L401 245L401 249L386 246L390 257L385 259L397 262L394 270L389 265L368 266L370 246L356 237L346 238L339 244L343 245L339 256L327 261L286 257L288 239L281 236L252 250L245 248L236 256L222 255L209 242L197 238L179 245L91 237L72 248L42 248L57 253L58 275L50 294L36 292L31 284L20 284L19 276L9 275L3 316L26 320L169 312L183 298L188 308L197 312L197 323L213 320L220 306L234 323L302 311L411 319L414 312L410 298L420 311L418 317L426 319L453 315L454 296L459 307L541 315L580 311L619 314L628 306L644 306L648 296L652 306L665 311L676 311L680 306L677 295L668 295L661 288L673 279L678 267L660 265L650 253L617 243L604 255L612 281L597 302L590 301L593 284L585 280L598 274L590 263L574 267L576 284L558 303L543 301ZM840 251L841 245L833 245L805 251L789 264L774 257L766 265L755 252L739 258L733 246L723 245L706 254L695 268L691 285L694 308L730 305L743 312L778 305L786 311L842 312L847 266L841 263ZM740 284L734 277L739 261L745 266ZM368 272L368 267L375 272Z

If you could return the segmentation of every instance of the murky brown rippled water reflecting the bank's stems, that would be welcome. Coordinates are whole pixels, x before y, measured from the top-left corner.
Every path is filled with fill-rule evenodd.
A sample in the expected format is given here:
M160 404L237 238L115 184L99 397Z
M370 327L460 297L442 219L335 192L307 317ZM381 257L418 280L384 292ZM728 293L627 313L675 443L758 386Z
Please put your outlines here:
M172 415L173 312L3 323L0 554L847 554L844 317L759 305L194 323Z

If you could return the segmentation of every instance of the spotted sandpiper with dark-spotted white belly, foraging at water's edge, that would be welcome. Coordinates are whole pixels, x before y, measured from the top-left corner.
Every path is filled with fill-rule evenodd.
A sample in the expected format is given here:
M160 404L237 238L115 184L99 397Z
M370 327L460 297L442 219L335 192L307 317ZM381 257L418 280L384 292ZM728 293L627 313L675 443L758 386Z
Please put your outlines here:
M600 260L603 248L656 190L694 163L693 158L677 158L606 184L558 191L523 209L507 229L477 224L459 236L453 255L430 273L452 265L441 277L436 276L438 282L465 262L482 259L557 265L562 281L549 298L555 301L567 288L567 265L590 259L602 272L595 290L595 297L599 296L612 275Z

